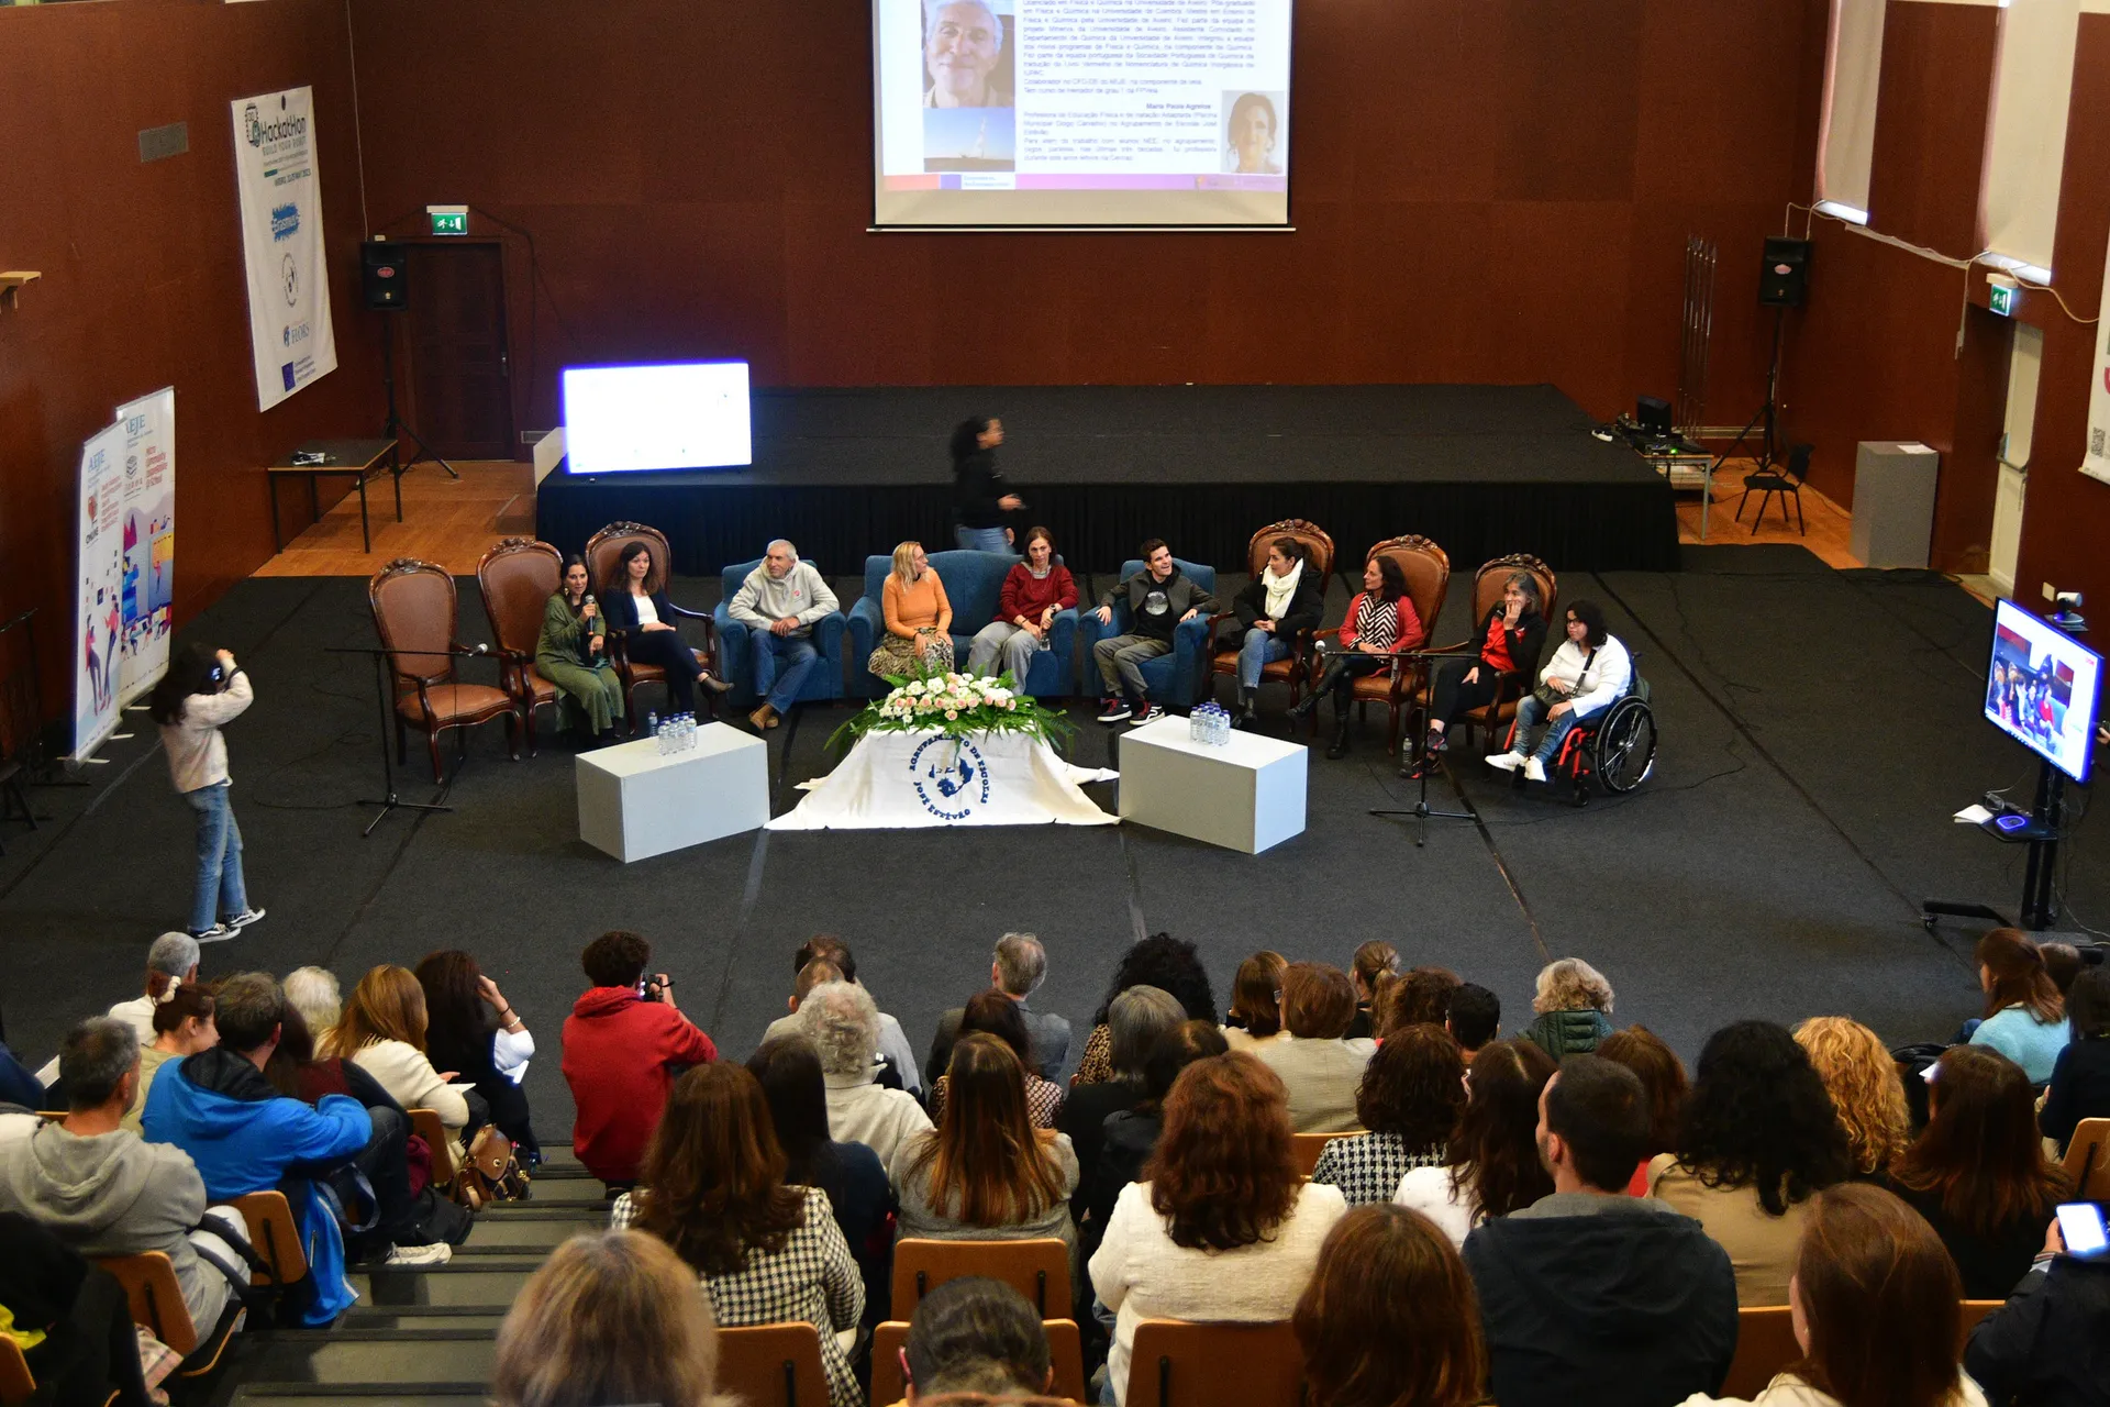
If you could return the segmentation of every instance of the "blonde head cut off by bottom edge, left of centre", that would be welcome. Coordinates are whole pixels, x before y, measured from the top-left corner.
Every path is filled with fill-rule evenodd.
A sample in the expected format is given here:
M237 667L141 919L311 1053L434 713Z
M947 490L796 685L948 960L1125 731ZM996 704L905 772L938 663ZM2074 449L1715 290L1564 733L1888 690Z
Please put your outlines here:
M656 1236L572 1236L528 1276L498 1325L492 1399L498 1407L720 1407L711 1297L696 1293L696 1272Z

